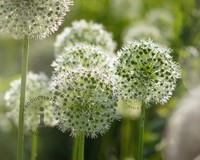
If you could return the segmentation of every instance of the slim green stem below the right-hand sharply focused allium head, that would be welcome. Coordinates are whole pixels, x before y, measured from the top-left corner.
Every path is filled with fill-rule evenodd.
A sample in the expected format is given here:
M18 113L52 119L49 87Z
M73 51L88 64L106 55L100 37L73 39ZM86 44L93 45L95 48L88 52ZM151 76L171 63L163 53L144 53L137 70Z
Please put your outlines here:
M139 129L138 160L142 160L143 156L144 121L145 121L145 104L142 103L141 115L140 115L140 129Z

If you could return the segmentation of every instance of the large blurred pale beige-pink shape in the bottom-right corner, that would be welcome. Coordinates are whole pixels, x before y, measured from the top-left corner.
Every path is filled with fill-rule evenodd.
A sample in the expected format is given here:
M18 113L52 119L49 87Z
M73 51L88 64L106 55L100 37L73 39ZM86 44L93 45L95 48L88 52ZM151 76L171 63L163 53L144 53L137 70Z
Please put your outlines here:
M197 86L179 100L176 110L168 119L161 143L164 159L200 160L199 97L200 86Z

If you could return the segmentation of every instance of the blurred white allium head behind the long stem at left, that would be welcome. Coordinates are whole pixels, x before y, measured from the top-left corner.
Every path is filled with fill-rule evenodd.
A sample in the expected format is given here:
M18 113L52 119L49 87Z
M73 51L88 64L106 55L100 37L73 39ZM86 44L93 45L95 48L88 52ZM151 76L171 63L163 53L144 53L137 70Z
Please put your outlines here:
M7 116L18 125L21 79L14 80L10 86L11 88L4 97L8 107ZM24 106L25 128L35 130L40 127L39 114L41 112L44 115L43 125L54 125L49 95L48 77L43 73L34 74L29 72L27 75L26 103Z

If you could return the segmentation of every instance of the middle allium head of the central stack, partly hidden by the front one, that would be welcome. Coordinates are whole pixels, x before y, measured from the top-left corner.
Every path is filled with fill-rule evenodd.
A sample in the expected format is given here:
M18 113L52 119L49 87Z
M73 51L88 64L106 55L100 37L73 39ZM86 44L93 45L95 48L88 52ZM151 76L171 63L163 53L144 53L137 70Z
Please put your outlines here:
M63 50L52 63L55 72L66 71L69 68L76 67L111 67L110 57L98 46L90 44L70 45Z

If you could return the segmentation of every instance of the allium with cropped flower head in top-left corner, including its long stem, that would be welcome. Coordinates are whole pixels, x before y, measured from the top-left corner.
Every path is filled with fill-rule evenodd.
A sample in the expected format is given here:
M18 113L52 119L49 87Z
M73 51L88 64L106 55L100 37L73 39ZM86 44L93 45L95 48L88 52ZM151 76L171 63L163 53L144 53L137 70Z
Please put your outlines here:
M17 160L23 160L23 126L29 38L44 39L61 25L72 0L0 0L0 31L24 39Z

